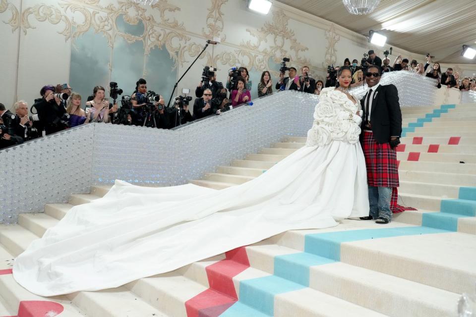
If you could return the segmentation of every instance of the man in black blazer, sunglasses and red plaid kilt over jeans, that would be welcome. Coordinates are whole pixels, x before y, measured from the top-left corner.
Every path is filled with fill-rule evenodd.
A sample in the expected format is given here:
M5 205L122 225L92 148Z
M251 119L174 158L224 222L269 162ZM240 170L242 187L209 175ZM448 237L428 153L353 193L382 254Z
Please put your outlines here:
M367 167L368 217L377 223L392 220L392 208L397 206L396 189L399 186L397 152L402 134L402 112L397 88L379 84L381 69L369 66L365 73L368 92L360 101L363 110L362 142ZM395 191L395 193L392 193Z

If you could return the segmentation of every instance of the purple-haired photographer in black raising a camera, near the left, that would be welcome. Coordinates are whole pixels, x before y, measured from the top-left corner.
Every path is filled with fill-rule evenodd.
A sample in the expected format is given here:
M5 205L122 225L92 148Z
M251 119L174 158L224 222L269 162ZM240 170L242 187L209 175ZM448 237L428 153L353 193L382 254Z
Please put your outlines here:
M67 128L66 108L61 102L67 99L67 95L55 94L55 87L51 85L44 86L40 90L40 95L42 98L35 99L35 104L32 106L38 114L39 121L34 122L37 130L48 135Z

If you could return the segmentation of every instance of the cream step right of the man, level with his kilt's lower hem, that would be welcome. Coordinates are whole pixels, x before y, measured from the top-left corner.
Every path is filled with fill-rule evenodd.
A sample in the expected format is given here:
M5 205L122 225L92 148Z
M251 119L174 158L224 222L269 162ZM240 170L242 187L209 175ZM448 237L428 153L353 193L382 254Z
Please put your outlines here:
M433 184L446 184L455 186L476 186L476 175L437 172L421 172L399 168L400 181L419 181Z

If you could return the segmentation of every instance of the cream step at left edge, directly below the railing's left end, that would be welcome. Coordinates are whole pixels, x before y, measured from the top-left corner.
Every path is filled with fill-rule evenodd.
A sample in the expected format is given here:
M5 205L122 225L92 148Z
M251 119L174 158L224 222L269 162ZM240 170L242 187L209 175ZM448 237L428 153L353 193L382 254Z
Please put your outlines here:
M35 239L38 239L38 236L22 226L0 226L0 244L15 257L28 248L30 243Z

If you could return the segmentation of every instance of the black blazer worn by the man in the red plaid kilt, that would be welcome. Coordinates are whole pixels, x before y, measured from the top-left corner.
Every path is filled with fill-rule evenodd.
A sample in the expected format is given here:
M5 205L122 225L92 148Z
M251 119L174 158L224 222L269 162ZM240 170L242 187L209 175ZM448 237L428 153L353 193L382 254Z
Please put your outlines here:
M364 102L367 94L360 100L363 110L362 130L365 121ZM402 111L398 102L398 90L394 85L380 85L373 94L370 123L373 137L377 143L388 143L390 137L402 135ZM363 140L363 131L360 134Z

